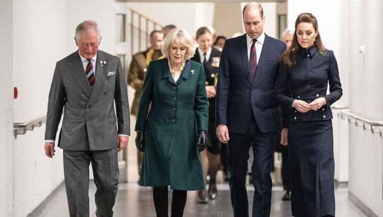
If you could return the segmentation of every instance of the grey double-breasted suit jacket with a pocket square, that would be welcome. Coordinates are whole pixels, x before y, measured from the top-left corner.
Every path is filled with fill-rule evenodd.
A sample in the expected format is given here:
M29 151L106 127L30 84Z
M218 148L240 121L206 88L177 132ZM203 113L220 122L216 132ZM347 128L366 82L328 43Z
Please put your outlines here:
M58 141L61 149L113 149L118 147L117 134L130 135L128 93L121 61L99 50L94 64L97 64L95 79L90 87L78 51L56 63L45 140L56 139L64 111Z

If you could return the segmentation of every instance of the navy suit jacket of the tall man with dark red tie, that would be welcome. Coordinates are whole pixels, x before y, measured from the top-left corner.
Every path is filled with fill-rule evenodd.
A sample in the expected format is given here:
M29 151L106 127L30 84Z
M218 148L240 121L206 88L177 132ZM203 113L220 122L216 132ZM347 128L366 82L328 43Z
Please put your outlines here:
M275 83L286 44L265 34L253 81L249 78L246 34L225 41L216 95L216 125L229 132L245 133L254 115L260 131L277 131Z

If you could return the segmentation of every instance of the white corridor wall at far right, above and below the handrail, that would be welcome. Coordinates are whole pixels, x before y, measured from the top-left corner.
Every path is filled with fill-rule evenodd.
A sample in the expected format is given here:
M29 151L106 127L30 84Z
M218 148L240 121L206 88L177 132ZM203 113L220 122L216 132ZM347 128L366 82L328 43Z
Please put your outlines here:
M350 1L350 112L376 121L383 121L383 29L376 22L382 11L382 1ZM349 197L369 216L383 216L383 139L349 128Z

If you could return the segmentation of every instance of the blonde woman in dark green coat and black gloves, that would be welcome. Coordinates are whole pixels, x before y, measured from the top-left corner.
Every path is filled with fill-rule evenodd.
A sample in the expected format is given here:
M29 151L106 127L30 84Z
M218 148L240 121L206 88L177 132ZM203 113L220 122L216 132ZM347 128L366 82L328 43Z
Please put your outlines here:
M205 72L189 60L196 48L185 30L165 39L165 57L152 61L138 108L136 146L143 151L139 184L153 187L157 216L168 216L167 186L173 189L172 217L182 216L187 190L205 189L199 152L206 147L209 101Z

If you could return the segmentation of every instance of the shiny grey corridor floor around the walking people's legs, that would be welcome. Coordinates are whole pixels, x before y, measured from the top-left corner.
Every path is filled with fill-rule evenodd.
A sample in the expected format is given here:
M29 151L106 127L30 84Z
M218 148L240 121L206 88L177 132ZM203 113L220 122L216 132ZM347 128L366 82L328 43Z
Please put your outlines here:
M252 201L253 187L248 186L248 198ZM197 192L188 191L187 203L184 211L184 217L231 217L232 209L230 203L230 192L228 183L218 185L218 197L214 201L208 201L207 204L198 204ZM94 205L95 186L90 184L89 199L91 217L95 217ZM292 216L289 201L281 201L283 195L281 186L273 186L271 216ZM171 196L171 194L169 194ZM348 188L346 185L337 185L336 188L336 216L337 217L365 217L348 199ZM170 199L171 201L171 199ZM249 206L251 209L251 206ZM67 203L64 185L61 185L57 194L52 197L45 208L40 210L37 217L67 217ZM138 186L137 183L119 184L116 203L114 206L115 217L155 217L155 209L152 201L152 189L149 187ZM251 213L251 210L250 210Z

